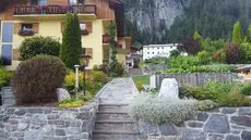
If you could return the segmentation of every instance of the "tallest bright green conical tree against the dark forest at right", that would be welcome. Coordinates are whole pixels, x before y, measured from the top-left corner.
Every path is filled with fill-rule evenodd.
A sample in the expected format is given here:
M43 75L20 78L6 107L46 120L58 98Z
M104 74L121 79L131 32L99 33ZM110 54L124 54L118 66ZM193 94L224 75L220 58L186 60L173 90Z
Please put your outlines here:
M232 41L236 43L241 43L243 41L242 29L240 22L237 22L232 28Z

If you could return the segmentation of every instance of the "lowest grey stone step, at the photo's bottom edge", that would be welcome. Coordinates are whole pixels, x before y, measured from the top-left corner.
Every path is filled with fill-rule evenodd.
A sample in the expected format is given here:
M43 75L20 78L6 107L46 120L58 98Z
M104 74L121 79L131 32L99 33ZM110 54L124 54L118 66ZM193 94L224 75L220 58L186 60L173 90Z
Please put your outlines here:
M95 130L93 133L93 140L139 140L139 132L135 131Z

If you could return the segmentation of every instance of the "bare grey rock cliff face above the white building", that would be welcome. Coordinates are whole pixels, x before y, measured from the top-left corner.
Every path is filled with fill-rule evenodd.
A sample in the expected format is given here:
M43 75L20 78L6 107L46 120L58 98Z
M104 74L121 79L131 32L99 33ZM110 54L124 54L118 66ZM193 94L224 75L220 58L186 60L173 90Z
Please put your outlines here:
M150 40L159 40L165 37L167 29L181 15L191 0L123 0L125 28L130 34L131 26L139 30L141 36L156 35Z

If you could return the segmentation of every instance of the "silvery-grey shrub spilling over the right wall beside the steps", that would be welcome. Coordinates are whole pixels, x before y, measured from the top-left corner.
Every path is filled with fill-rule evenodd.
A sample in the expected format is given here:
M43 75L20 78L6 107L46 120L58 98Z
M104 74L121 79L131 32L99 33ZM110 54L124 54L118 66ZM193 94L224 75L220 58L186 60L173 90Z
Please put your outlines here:
M140 94L130 105L135 119L152 124L180 124L196 114L194 100L170 100L153 94Z

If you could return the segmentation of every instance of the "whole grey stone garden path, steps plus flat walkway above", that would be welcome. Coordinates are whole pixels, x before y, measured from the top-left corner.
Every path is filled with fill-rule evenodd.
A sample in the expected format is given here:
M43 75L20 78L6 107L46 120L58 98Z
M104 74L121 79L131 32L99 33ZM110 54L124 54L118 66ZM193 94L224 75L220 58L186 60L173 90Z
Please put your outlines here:
M116 78L100 93L93 140L141 140L128 105L139 93L131 78Z

